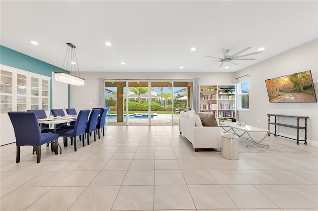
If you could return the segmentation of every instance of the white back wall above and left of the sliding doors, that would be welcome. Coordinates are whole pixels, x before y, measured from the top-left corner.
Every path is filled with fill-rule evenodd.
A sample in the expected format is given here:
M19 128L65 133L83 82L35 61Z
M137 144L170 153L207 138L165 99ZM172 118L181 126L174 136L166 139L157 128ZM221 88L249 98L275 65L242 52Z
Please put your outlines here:
M193 79L199 78L200 84L231 84L234 73L180 73L180 72L81 72L84 86L71 86L71 107L91 109L98 107L98 80L106 79Z

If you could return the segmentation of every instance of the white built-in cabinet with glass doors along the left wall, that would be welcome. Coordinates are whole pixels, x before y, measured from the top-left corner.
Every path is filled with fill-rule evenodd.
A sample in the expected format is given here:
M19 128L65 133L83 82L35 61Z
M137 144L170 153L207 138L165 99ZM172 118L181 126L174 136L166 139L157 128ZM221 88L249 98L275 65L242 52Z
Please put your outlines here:
M50 112L50 77L1 64L0 145L15 141L9 111L44 109Z

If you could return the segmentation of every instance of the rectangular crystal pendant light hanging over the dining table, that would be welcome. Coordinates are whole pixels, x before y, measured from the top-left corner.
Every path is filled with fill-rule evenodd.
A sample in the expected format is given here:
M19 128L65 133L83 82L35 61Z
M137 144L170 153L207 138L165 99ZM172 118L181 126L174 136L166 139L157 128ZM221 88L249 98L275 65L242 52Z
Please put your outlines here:
M80 78L80 75L77 76L77 72L79 73L79 64L75 52L76 46L72 43L67 43L67 45L68 47L66 49L62 69L68 70L68 67L70 66L70 70L68 70L70 71L70 74L66 72L55 72L55 80L75 86L84 86L85 79Z

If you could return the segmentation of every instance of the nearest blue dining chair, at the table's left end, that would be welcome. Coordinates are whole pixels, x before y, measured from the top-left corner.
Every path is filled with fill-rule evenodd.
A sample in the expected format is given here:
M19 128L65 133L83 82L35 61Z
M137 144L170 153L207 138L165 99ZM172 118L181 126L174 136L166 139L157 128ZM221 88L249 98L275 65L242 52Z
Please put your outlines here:
M55 154L58 154L58 138L56 133L41 133L35 112L30 111L10 111L9 118L12 122L15 144L16 162L20 162L20 147L35 146L37 153L37 163L41 161L41 145L54 141Z

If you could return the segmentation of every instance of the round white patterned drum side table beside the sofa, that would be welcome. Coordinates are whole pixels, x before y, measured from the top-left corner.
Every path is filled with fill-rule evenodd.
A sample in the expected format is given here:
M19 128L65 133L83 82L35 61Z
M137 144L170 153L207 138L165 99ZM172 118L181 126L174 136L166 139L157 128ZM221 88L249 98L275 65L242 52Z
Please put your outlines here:
M239 136L231 133L221 135L221 156L226 159L239 159Z

